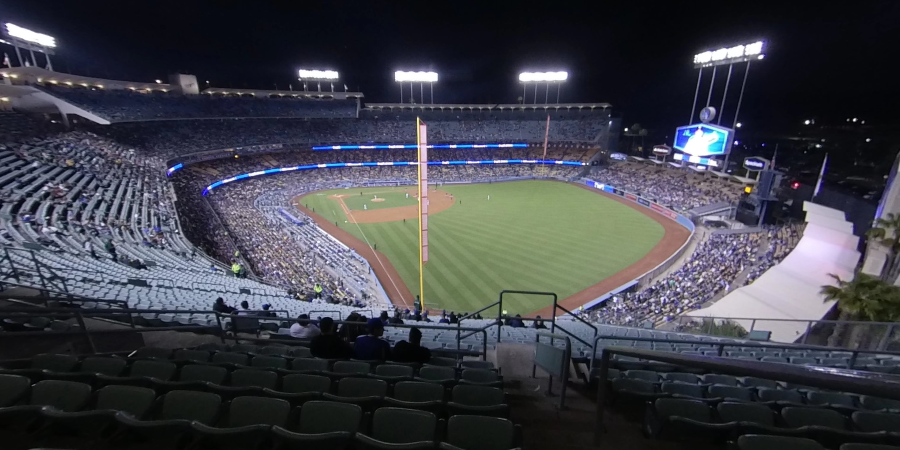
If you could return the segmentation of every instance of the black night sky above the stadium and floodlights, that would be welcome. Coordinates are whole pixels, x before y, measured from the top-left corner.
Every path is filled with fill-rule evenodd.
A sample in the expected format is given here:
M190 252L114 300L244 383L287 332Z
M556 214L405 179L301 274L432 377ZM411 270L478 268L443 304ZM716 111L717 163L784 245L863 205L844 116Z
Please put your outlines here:
M182 71L213 86L298 89L297 68L334 68L339 85L368 102L399 100L396 69L437 71L436 103L516 103L519 71L567 69L561 101L612 103L624 123L657 131L689 119L695 53L765 39L767 57L747 84L744 130L849 116L895 127L900 116L900 77L890 69L900 55L897 1L4 0L0 20L55 36L61 71L144 81ZM743 68L725 121L741 75Z

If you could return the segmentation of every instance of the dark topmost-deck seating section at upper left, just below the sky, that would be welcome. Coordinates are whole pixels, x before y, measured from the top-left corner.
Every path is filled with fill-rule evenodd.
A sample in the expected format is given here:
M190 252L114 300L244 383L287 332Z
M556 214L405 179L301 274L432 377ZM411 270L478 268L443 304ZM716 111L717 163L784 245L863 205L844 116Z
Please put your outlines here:
M44 85L49 94L75 103L109 121L216 117L356 117L356 100L293 97L256 98L211 94L175 94Z

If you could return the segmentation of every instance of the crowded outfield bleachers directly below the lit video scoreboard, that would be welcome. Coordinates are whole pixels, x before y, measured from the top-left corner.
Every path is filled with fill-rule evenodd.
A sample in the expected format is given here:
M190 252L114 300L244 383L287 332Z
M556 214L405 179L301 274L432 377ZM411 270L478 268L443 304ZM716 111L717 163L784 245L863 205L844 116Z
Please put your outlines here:
M593 170L589 177L681 211L715 202L737 202L741 195L738 184L664 166L615 163Z

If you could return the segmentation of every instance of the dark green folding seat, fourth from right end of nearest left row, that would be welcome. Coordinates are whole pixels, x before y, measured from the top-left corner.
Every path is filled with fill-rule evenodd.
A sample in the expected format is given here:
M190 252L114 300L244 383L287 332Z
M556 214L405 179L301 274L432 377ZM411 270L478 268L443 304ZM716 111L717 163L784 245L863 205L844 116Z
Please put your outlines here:
M257 448L274 427L284 427L291 404L282 399L266 397L237 397L230 401L228 418L220 427L193 422L197 437L195 446L214 443L218 447Z

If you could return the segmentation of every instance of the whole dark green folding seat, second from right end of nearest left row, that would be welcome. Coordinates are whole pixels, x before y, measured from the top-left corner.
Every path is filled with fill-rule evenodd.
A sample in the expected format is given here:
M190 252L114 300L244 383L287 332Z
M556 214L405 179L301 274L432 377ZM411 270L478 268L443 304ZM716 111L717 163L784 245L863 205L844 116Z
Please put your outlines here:
M435 447L437 417L422 410L379 408L370 434L356 433L357 449L427 450Z

